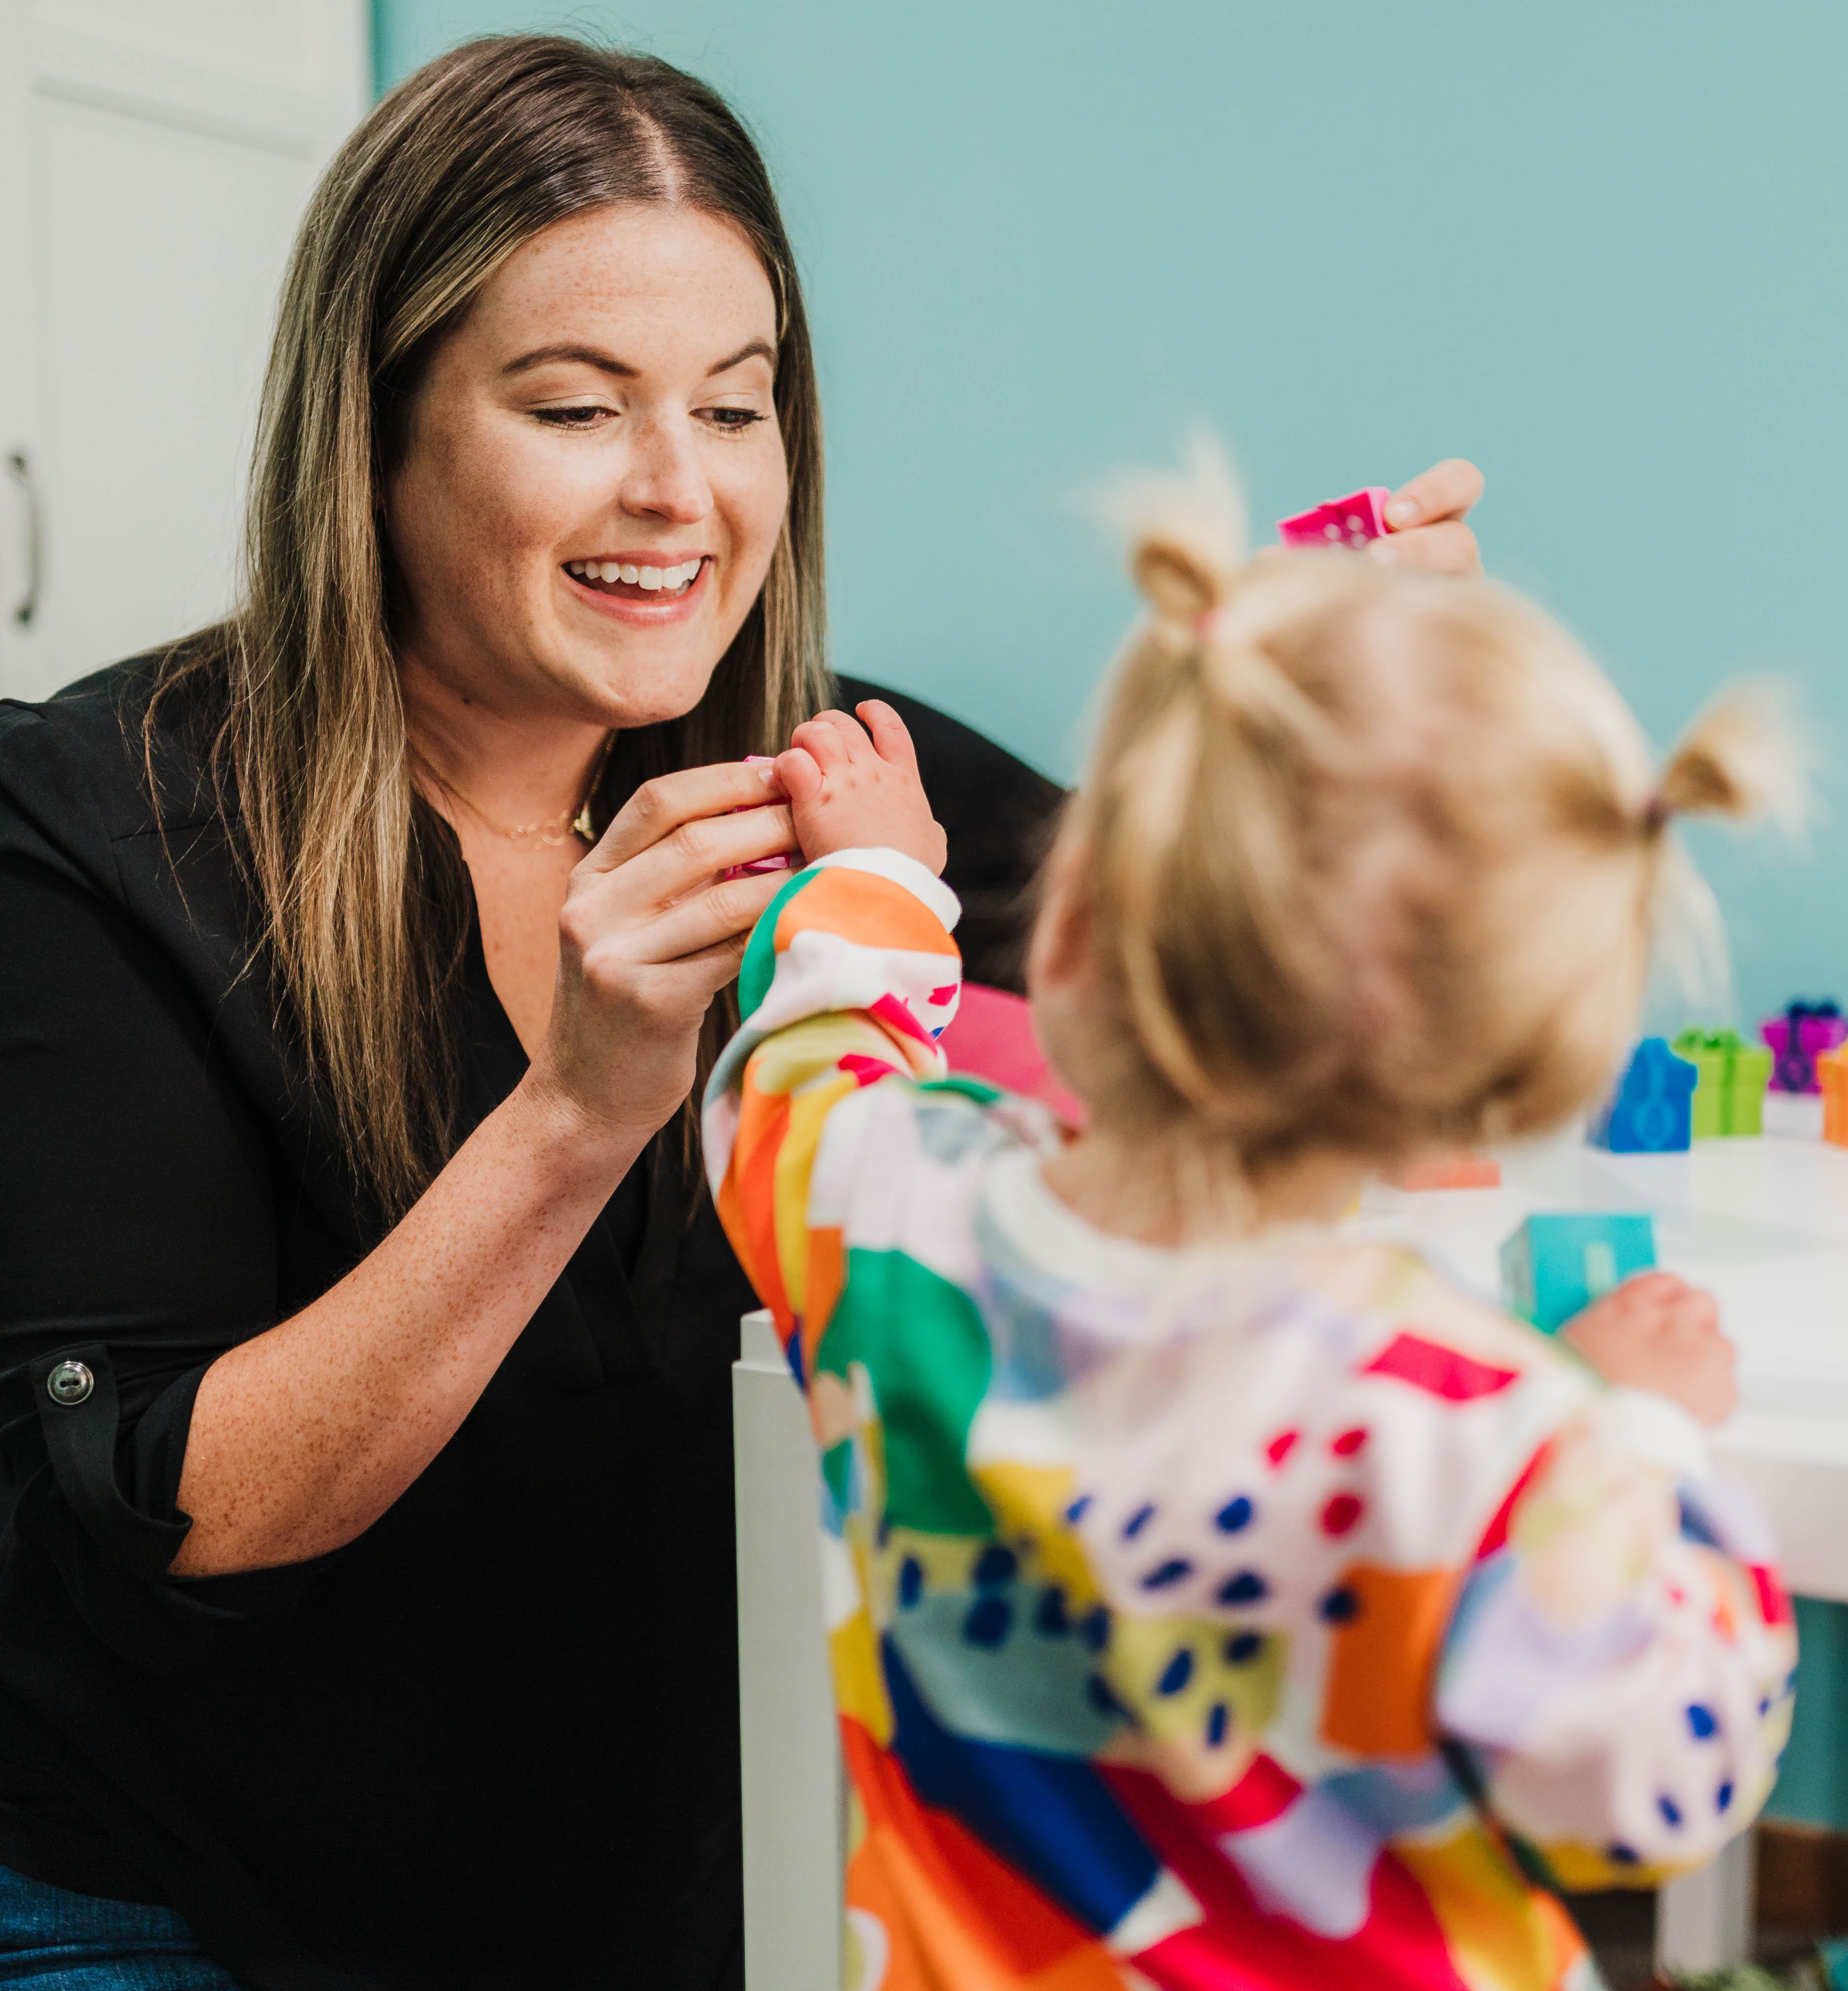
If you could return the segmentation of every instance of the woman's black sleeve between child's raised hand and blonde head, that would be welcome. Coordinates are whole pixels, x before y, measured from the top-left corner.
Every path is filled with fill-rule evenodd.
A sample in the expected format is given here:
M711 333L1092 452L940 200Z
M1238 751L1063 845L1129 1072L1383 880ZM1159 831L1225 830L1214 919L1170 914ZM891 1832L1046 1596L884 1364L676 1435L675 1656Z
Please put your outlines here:
M840 695L848 709L884 699L910 727L924 792L950 838L944 884L962 900L956 940L964 974L1024 994L1034 878L1065 790L922 699L854 677L840 679Z

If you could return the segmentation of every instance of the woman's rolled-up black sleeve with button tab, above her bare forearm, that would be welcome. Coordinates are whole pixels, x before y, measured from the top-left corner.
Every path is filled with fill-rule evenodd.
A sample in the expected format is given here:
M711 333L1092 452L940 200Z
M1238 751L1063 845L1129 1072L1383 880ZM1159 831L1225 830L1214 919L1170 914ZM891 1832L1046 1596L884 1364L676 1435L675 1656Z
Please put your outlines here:
M277 1589L167 1575L199 1378L275 1320L273 1171L110 862L82 767L0 713L0 1523L163 1664Z

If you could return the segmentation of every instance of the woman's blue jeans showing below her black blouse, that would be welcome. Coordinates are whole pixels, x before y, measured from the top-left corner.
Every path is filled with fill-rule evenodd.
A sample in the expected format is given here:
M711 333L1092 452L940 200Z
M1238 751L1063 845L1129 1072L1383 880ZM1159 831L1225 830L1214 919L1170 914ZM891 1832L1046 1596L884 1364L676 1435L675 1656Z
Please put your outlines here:
M0 1985L243 1991L171 1907L68 1893L12 1868L0 1868Z

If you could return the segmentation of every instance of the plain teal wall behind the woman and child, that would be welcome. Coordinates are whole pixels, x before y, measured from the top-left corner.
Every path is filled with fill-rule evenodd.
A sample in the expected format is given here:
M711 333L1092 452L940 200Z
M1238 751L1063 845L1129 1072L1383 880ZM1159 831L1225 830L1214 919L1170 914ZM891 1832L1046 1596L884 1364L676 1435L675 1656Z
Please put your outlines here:
M1669 737L1848 727L1848 10L1830 0L378 0L378 74L576 26L723 88L818 323L836 661L1069 773L1129 591L1083 492L1231 438L1265 520L1452 452L1490 567ZM1836 806L1701 856L1742 1007L1848 999Z

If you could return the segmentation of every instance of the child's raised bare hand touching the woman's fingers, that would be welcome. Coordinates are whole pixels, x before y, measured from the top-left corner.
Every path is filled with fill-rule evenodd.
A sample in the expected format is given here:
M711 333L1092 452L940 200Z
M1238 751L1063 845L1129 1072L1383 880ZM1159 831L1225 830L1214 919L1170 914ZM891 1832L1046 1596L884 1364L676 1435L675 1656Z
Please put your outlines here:
M846 713L805 721L789 753L777 755L803 856L812 864L832 850L888 848L942 874L950 848L930 814L904 721L880 699L858 713L864 727Z

